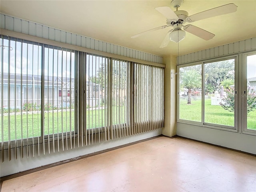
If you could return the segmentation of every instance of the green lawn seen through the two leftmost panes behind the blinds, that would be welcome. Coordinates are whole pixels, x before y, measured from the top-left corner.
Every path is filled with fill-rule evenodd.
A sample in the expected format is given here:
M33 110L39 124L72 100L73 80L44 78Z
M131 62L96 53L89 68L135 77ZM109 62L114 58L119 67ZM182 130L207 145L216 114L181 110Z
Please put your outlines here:
M57 118L58 116L58 118ZM4 116L4 141L8 140L8 126L10 126L10 140L38 137L41 135L41 113L10 115L10 124L8 116ZM44 135L74 131L74 112L46 112L44 114ZM15 135L16 132L16 135ZM2 133L0 133L2 141Z

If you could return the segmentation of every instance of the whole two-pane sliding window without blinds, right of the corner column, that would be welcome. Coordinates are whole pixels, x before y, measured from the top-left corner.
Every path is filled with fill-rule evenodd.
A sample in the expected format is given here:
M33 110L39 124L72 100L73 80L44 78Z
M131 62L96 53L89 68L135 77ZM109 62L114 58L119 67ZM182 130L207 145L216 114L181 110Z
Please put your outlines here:
M236 128L235 61L227 58L178 67L178 121Z

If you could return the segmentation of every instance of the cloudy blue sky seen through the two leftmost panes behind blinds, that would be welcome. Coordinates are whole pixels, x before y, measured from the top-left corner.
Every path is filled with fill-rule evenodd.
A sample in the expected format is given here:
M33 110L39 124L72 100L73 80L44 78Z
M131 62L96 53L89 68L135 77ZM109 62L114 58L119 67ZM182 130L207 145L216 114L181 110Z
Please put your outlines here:
M8 46L8 40L4 40L4 45ZM41 75L42 46L21 42L15 44L14 41L10 41L10 46L13 50L9 51L8 48L3 50L3 72L10 70L10 73ZM71 77L74 78L74 52L70 54L68 51L52 48L44 48L44 51L45 76L70 77L71 72ZM10 52L10 65L8 64L8 52Z

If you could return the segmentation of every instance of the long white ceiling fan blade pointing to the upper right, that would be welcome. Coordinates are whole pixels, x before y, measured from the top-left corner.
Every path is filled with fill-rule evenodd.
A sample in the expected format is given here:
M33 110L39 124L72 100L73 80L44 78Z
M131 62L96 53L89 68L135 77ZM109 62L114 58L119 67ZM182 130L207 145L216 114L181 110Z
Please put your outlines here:
M194 15L188 16L186 18L186 22L194 22L210 17L215 17L219 15L224 15L232 12L236 12L237 6L234 3L226 4L220 7L216 7L213 9L209 9L200 13L196 13Z

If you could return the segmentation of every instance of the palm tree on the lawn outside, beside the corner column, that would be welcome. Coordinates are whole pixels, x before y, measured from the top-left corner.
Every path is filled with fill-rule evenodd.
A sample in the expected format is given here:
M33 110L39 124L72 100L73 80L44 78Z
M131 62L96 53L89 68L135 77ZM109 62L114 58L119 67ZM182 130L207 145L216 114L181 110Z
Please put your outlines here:
M201 88L201 75L197 70L181 72L180 85L188 89L188 104L191 104L192 89Z

